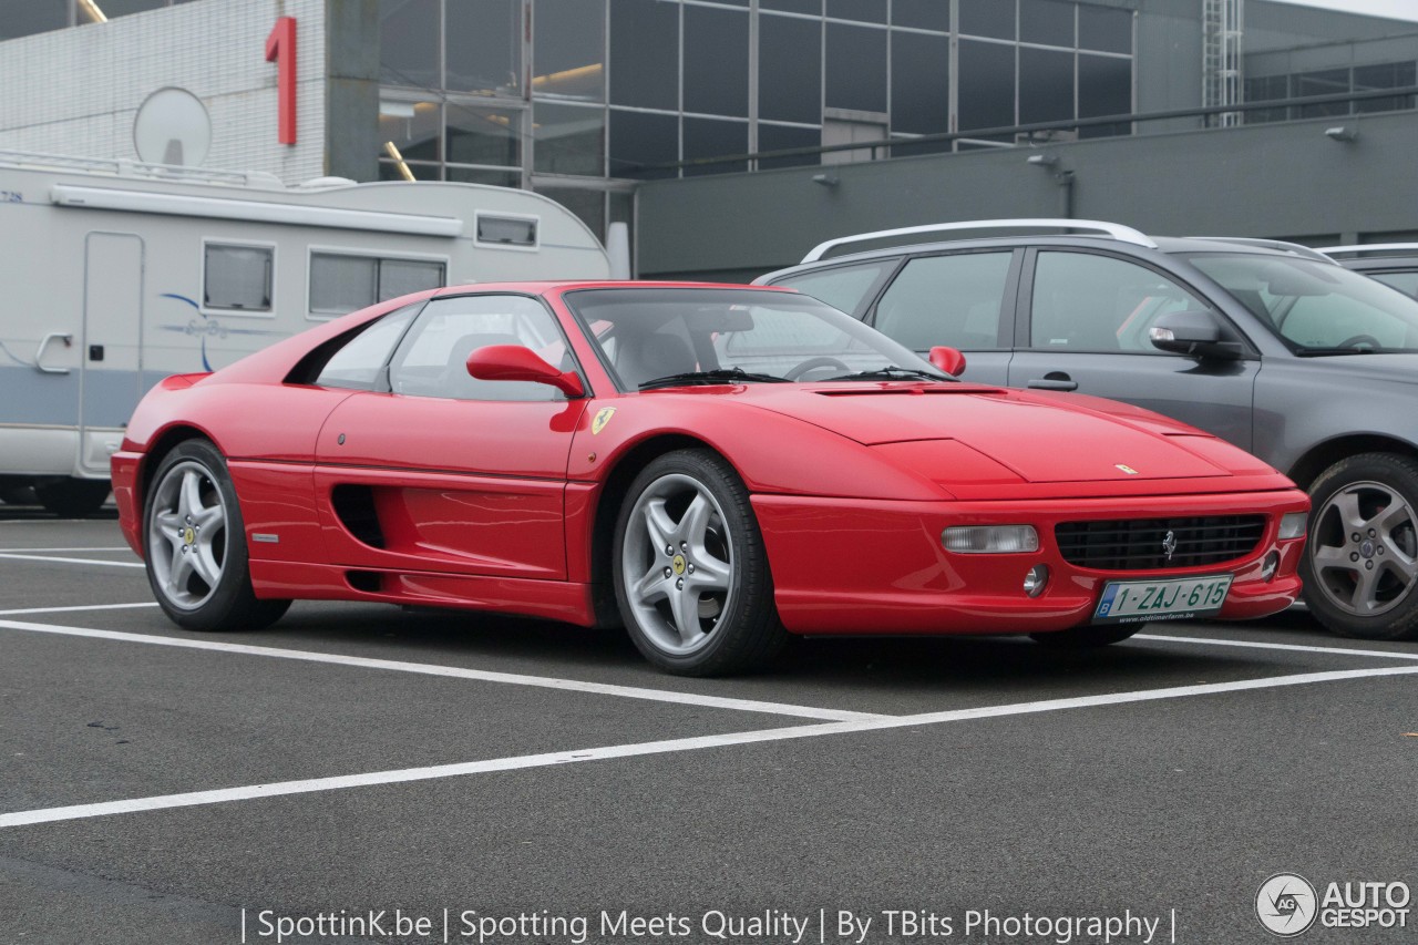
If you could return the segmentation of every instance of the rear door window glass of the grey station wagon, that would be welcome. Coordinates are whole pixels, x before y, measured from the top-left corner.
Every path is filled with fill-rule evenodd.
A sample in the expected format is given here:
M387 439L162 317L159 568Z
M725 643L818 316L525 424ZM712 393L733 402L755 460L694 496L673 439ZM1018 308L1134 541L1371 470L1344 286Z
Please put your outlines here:
M1000 348L1000 308L1012 253L912 260L876 305L876 331L906 348Z

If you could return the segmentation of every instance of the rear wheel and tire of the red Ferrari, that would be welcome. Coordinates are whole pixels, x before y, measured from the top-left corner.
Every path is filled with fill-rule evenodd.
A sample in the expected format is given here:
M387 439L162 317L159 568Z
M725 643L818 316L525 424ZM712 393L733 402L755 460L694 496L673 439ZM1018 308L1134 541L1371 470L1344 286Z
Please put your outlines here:
M257 599L241 505L225 460L206 440L182 443L157 467L143 535L147 583L180 627L259 630L291 606Z

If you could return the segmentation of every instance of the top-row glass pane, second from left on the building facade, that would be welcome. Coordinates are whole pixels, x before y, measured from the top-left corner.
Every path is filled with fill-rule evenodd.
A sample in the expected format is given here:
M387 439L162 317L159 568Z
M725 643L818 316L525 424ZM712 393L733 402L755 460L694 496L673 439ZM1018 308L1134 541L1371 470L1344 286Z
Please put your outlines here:
M454 0L445 6L447 87L516 95L522 84L522 9L518 0Z

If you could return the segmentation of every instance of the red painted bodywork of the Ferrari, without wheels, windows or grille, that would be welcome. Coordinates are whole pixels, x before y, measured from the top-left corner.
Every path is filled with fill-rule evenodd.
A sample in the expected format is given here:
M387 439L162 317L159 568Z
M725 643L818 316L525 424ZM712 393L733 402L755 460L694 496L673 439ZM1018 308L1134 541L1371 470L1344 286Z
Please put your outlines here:
M605 284L625 288L627 284ZM594 284L421 292L320 325L214 375L170 377L112 461L119 521L143 553L145 485L167 444L228 460L258 596L386 600L597 620L607 484L649 444L703 444L752 494L784 624L797 633L1027 633L1088 623L1107 579L1234 573L1224 617L1299 593L1303 539L1278 524L1307 499L1219 440L1092 397L974 385L718 385L621 393L563 302ZM725 287L716 285L716 289ZM764 289L757 289L764 291ZM587 396L542 403L404 397L285 379L312 350L431 295L542 298ZM605 407L614 414L597 424ZM1079 448L1088 444L1088 448ZM658 447L655 447L658 448ZM627 467L630 468L630 467ZM342 518L374 509L380 541ZM1061 556L1059 521L1261 514L1254 552L1224 566L1095 572ZM946 552L950 525L1034 524L1028 555ZM604 524L604 522L603 522ZM1262 562L1279 566L1266 579ZM1024 572L1054 575L1037 599Z

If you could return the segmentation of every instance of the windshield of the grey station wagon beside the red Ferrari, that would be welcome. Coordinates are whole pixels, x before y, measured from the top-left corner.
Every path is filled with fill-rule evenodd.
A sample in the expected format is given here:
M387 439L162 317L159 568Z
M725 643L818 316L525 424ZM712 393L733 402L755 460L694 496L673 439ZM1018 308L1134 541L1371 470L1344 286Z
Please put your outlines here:
M1297 355L1418 350L1418 299L1310 260L1194 255L1193 265L1255 312Z

